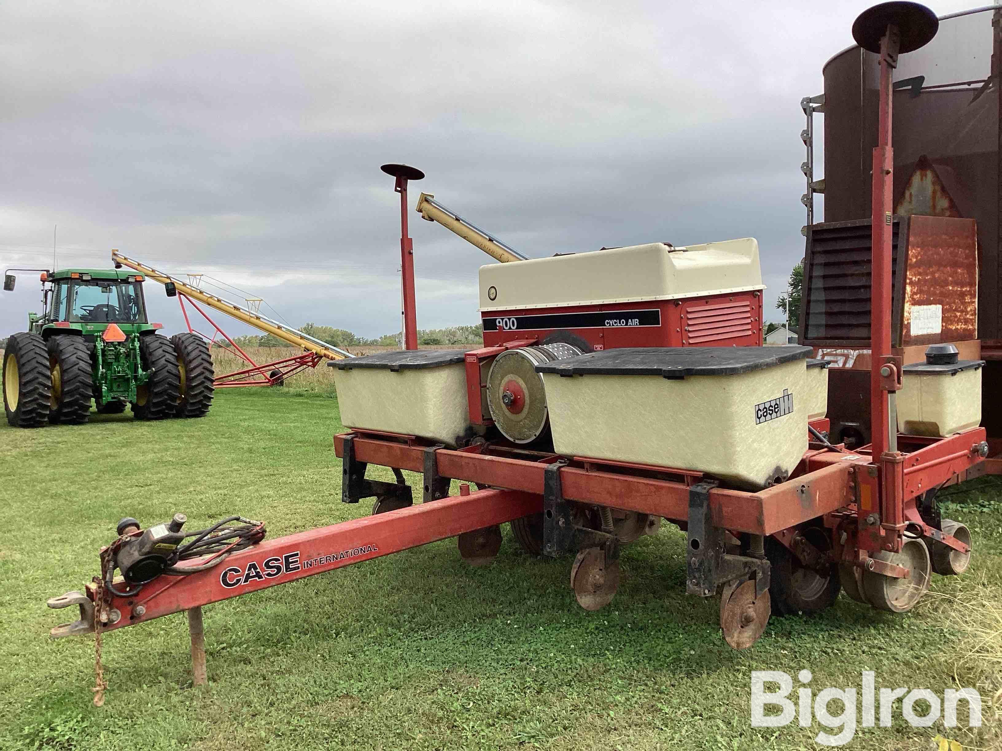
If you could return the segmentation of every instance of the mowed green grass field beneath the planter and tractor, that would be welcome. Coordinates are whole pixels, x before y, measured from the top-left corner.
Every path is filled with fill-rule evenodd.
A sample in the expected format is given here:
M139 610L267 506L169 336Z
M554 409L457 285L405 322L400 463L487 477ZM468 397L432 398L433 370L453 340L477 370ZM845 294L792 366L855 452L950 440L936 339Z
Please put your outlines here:
M998 663L966 659L959 606L930 597L894 617L843 596L819 618L774 618L733 652L716 601L684 594L684 536L668 525L625 548L618 595L597 613L577 606L570 560L528 557L506 529L490 567L466 566L447 540L207 606L206 687L191 686L182 614L123 629L104 639L95 708L93 637L49 640L70 611L44 603L97 573L119 518L183 512L197 529L240 514L278 537L370 503L341 503L335 399L222 392L204 420L92 417L0 428L2 749L815 748L817 723L749 724L750 671L804 668L814 687L859 687L862 670L940 695L980 682L979 732L914 729L899 707L893 727L861 728L849 748L925 749L937 733L1002 746L986 693L1002 688ZM949 504L977 552L934 589L973 602L983 624L1002 592L1002 485Z

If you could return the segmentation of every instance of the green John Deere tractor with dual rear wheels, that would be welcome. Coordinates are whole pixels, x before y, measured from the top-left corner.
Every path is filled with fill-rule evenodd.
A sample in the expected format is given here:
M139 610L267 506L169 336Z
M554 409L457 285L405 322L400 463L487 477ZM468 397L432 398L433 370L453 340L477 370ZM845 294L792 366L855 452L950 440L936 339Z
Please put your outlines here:
M169 339L149 323L141 274L93 268L41 271L41 315L7 339L3 404L19 428L79 425L91 400L102 415L130 405L138 420L200 418L212 404L212 358L194 333ZM15 277L4 275L4 289Z

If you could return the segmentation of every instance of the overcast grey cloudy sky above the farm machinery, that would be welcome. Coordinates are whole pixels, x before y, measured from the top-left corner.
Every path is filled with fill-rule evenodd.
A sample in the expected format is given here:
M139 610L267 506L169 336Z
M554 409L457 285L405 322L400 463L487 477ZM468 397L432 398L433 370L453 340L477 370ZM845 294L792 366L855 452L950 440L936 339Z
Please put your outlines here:
M427 174L419 327L476 322L493 262L422 221L421 190L530 256L757 237L781 320L800 100L869 4L4 0L0 261L51 266L57 224L60 267L116 247L375 336L400 326L397 161ZM39 286L0 295L0 335Z

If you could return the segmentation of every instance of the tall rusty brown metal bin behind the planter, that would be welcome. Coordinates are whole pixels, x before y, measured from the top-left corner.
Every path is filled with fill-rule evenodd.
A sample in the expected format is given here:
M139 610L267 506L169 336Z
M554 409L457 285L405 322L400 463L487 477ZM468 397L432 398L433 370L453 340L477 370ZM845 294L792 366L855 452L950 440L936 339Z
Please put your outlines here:
M994 62L993 62L994 60ZM991 400L1002 384L1002 265L999 263L999 62L1002 61L1002 8L981 8L944 16L939 32L925 47L900 58L894 73L894 197L895 213L967 218L977 221L979 278L977 332L979 351L962 348L964 358L984 358L984 425L990 437L1002 438L1002 401ZM871 212L871 153L877 145L877 105L879 66L877 55L854 46L828 61L824 69L825 222L815 225L814 236L833 224L868 219ZM869 232L861 227L863 235ZM913 224L913 232L916 225ZM812 254L811 227L808 228L808 262ZM857 238L862 239L861 238ZM865 246L856 248L869 252ZM861 257L862 269L869 261ZM869 289L869 287L867 287ZM806 288L808 305L817 302L817 292ZM896 305L901 304L896 298ZM945 304L945 303L944 303ZM869 311L869 299L866 301ZM854 308L859 311L859 308ZM866 315L867 313L864 313ZM944 308L944 314L946 314ZM801 341L810 343L817 329L802 316ZM902 320L902 311L895 311ZM967 333L964 333L967 336ZM833 337L834 338L834 337ZM867 349L866 336L844 337L852 342L842 349ZM941 341L960 340L943 332ZM928 343L926 340L923 343ZM900 338L897 347L906 346ZM832 346L832 344L826 344ZM896 352L901 353L901 352ZM921 362L921 352L908 352L906 362ZM838 355L853 357L851 351ZM859 355L856 361L860 362ZM867 354L865 359L869 359ZM845 360L844 360L845 361ZM836 402L842 393L837 387L839 363L832 370L832 402L829 417L849 415L853 422L869 423L869 412L846 412L849 405ZM866 365L869 368L869 364ZM847 377L852 402L858 389ZM864 390L866 389L863 383ZM836 426L833 424L833 433ZM868 431L866 432L868 435ZM835 434L837 435L837 434Z

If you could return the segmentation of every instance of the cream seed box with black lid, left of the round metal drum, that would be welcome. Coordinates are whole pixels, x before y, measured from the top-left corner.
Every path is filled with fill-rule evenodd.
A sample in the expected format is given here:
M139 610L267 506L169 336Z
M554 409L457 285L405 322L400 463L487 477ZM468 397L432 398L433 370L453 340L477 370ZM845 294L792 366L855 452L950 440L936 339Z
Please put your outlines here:
M470 428L462 349L412 349L337 360L341 422L456 446Z

